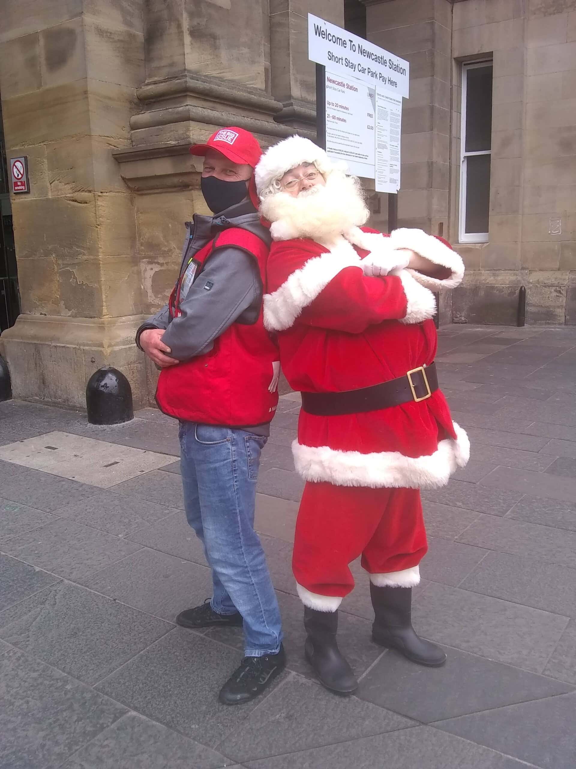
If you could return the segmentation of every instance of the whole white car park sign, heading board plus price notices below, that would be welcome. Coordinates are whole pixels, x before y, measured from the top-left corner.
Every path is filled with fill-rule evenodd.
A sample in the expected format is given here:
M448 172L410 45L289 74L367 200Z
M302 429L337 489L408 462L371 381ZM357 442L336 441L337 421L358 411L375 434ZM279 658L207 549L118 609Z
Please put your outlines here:
M308 58L326 71L326 152L377 192L397 192L409 62L312 14Z

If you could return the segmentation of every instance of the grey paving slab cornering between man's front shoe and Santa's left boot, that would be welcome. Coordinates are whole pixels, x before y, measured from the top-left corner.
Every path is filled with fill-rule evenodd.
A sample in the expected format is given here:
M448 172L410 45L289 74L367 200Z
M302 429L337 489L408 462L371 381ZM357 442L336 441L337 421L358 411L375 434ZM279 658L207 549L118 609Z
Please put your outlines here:
M558 685L558 684L557 684ZM237 761L289 753L339 741L383 734L414 722L357 697L335 697L296 674L266 697L219 750Z

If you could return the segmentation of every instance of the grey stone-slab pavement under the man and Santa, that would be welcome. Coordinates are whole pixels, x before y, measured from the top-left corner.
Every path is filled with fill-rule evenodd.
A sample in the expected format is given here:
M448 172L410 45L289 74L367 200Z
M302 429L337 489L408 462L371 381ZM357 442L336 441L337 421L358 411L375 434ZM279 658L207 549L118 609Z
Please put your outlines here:
M150 408L98 428L0 404L0 769L574 769L576 328L453 325L436 360L472 458L422 494L413 620L449 659L428 669L373 644L352 564L339 638L360 688L347 699L302 655L297 394L280 400L257 500L288 669L232 708L217 691L240 632L174 624L210 588L175 422Z

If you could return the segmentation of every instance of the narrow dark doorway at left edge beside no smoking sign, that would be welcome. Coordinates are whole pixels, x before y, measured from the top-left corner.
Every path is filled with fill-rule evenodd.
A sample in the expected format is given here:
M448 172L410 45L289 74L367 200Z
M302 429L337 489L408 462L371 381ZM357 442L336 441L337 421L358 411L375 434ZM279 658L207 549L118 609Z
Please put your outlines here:
M0 331L15 324L20 313L16 249L12 230L10 180L6 163L2 102L0 102Z

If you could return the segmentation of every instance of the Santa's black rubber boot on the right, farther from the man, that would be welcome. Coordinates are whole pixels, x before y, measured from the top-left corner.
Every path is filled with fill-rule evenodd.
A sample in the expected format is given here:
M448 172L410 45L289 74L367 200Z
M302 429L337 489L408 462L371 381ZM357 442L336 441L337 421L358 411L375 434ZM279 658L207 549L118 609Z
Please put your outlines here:
M446 661L444 651L425 641L412 628L412 588L377 588L370 583L370 597L376 619L372 624L372 641L397 649L412 662L439 667Z

